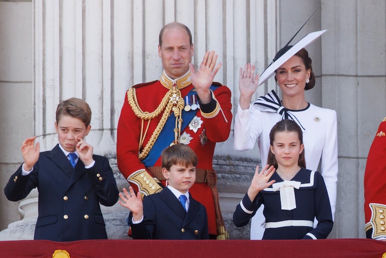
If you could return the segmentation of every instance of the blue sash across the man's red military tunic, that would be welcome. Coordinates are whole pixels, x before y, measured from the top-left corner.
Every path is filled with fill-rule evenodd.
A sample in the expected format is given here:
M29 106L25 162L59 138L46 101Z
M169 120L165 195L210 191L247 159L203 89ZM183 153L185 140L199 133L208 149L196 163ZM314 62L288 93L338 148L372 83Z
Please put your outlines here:
M218 85L212 85L211 90L217 89ZM191 89L186 96L197 95L195 88ZM181 132L185 130L185 127L190 123L191 119L195 117L197 111L199 110L189 110L185 111L182 109L182 124L181 124ZM161 133L159 134L157 140L151 148L149 154L142 160L143 165L145 167L153 167L155 162L161 156L161 152L163 149L168 147L174 141L174 132L173 129L175 127L175 116L173 113L169 115L167 118L165 125L162 128Z

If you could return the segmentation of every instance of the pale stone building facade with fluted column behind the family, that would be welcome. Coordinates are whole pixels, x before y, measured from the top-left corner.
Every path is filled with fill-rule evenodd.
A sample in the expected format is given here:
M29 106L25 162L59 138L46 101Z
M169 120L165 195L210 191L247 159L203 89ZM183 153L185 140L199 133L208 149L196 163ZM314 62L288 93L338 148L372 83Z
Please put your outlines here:
M240 67L251 62L261 73L315 10L294 42L327 30L307 47L316 86L306 99L338 117L337 205L329 237L364 237L364 167L386 116L384 0L0 0L0 187L23 162L24 139L37 136L41 151L55 146L56 106L78 97L93 111L87 141L110 159L122 190L128 184L116 166L120 109L131 85L159 79L164 24L189 27L196 66L206 50L219 54L223 65L215 80L231 89L236 112ZM277 87L269 79L256 98ZM232 134L217 145L214 168L231 238L249 238L248 226L234 227L232 213L260 163L259 150L235 151ZM14 203L0 195L0 239L33 237L37 196L33 191ZM127 211L116 204L103 212L109 238L127 238Z

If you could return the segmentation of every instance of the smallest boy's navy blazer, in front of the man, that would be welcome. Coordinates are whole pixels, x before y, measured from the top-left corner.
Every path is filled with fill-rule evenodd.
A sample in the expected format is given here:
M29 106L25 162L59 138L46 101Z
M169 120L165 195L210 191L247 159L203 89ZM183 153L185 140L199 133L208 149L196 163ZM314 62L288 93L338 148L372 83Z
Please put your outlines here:
M208 239L207 211L189 194L187 212L175 195L165 187L161 192L143 198L143 221L132 223L134 239Z

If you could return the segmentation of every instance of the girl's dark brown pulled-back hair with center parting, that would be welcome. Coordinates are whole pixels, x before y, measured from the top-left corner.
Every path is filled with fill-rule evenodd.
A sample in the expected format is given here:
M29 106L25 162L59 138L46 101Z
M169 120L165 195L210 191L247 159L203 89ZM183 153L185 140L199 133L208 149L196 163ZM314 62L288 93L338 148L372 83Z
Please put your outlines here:
M281 121L278 121L271 129L271 132L269 133L269 144L273 146L273 142L275 141L275 135L279 132L295 132L298 134L298 138L300 141L300 144L303 144L303 132L300 128L300 126L294 121L290 119L283 119ZM268 152L268 159L267 164L270 166L274 166L277 169L277 160L275 158L275 155L269 151ZM306 160L304 157L304 149L302 153L299 155L298 165L301 168L306 168Z

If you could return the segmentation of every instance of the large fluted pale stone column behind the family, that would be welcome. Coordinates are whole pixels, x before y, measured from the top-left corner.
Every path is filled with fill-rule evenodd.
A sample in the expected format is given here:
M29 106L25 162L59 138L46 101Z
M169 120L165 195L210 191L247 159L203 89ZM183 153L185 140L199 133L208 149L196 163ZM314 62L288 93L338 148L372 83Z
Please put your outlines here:
M277 6L272 1L34 0L32 10L33 135L41 151L51 150L57 143L57 104L69 97L85 99L93 113L87 141L96 154L109 158L120 190L128 186L116 166L120 109L131 85L159 79L162 65L157 45L164 24L178 21L190 28L196 66L205 51L219 54L223 66L215 81L233 92L234 110L239 68L252 62L261 72L267 57L276 53ZM274 87L274 82L267 82L256 95ZM257 150L234 151L232 133L216 148L220 202L234 238L239 236L232 235L232 213L255 171L257 157ZM239 171L239 165L245 170ZM20 209L23 219L17 223L28 225L32 238L37 192L23 200ZM116 204L102 211L109 238L127 238L127 210ZM243 233L248 238L249 233Z

